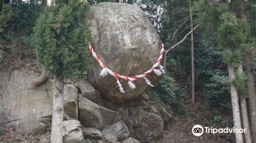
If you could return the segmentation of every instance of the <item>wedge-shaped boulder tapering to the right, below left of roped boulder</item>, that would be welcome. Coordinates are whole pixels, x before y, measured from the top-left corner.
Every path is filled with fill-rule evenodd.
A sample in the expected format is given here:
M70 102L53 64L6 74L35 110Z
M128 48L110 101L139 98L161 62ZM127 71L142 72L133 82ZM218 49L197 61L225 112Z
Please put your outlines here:
M120 113L99 106L87 98L78 97L78 107L80 122L83 127L103 129L118 122L121 118Z

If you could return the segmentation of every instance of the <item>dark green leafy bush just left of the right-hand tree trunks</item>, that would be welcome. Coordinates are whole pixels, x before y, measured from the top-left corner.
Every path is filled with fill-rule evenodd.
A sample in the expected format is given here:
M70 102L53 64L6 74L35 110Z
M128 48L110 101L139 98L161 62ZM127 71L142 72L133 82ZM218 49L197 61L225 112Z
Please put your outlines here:
M211 106L232 109L228 76L221 70L214 70L214 75L206 86L207 101Z

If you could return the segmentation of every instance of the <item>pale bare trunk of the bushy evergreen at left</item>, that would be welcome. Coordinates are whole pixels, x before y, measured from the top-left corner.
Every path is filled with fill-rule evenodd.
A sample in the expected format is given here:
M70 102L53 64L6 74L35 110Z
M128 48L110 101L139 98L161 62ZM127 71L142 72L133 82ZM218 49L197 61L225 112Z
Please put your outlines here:
M54 76L51 143L62 142L64 77Z

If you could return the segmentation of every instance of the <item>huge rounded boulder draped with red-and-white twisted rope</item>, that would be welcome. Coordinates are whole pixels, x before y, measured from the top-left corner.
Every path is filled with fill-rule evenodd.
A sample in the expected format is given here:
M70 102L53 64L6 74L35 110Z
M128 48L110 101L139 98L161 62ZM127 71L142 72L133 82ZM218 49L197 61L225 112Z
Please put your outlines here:
M122 3L100 3L88 14L90 31L95 40L94 51L107 67L120 75L135 76L150 69L157 61L161 40L147 15L137 6ZM164 65L165 58L161 62ZM89 81L99 89L104 99L122 103L141 96L148 86L144 79L136 80L130 89L126 80L120 80L125 93L119 91L116 78L100 77L101 67L94 60ZM161 77L147 75L156 85Z

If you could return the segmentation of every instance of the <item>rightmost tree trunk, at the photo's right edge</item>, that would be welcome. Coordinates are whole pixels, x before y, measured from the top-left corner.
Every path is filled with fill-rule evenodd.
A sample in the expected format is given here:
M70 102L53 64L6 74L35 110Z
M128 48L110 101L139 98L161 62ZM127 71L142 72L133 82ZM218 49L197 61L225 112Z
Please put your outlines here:
M242 19L247 22L247 16L244 12L246 3L242 2L241 5L241 15ZM254 83L254 74L251 68L252 58L251 50L245 51L245 63L246 63L246 74L248 77L248 94L249 94L249 107L251 115L251 125L252 125L252 137L253 142L256 143L256 94L255 94L255 83Z

